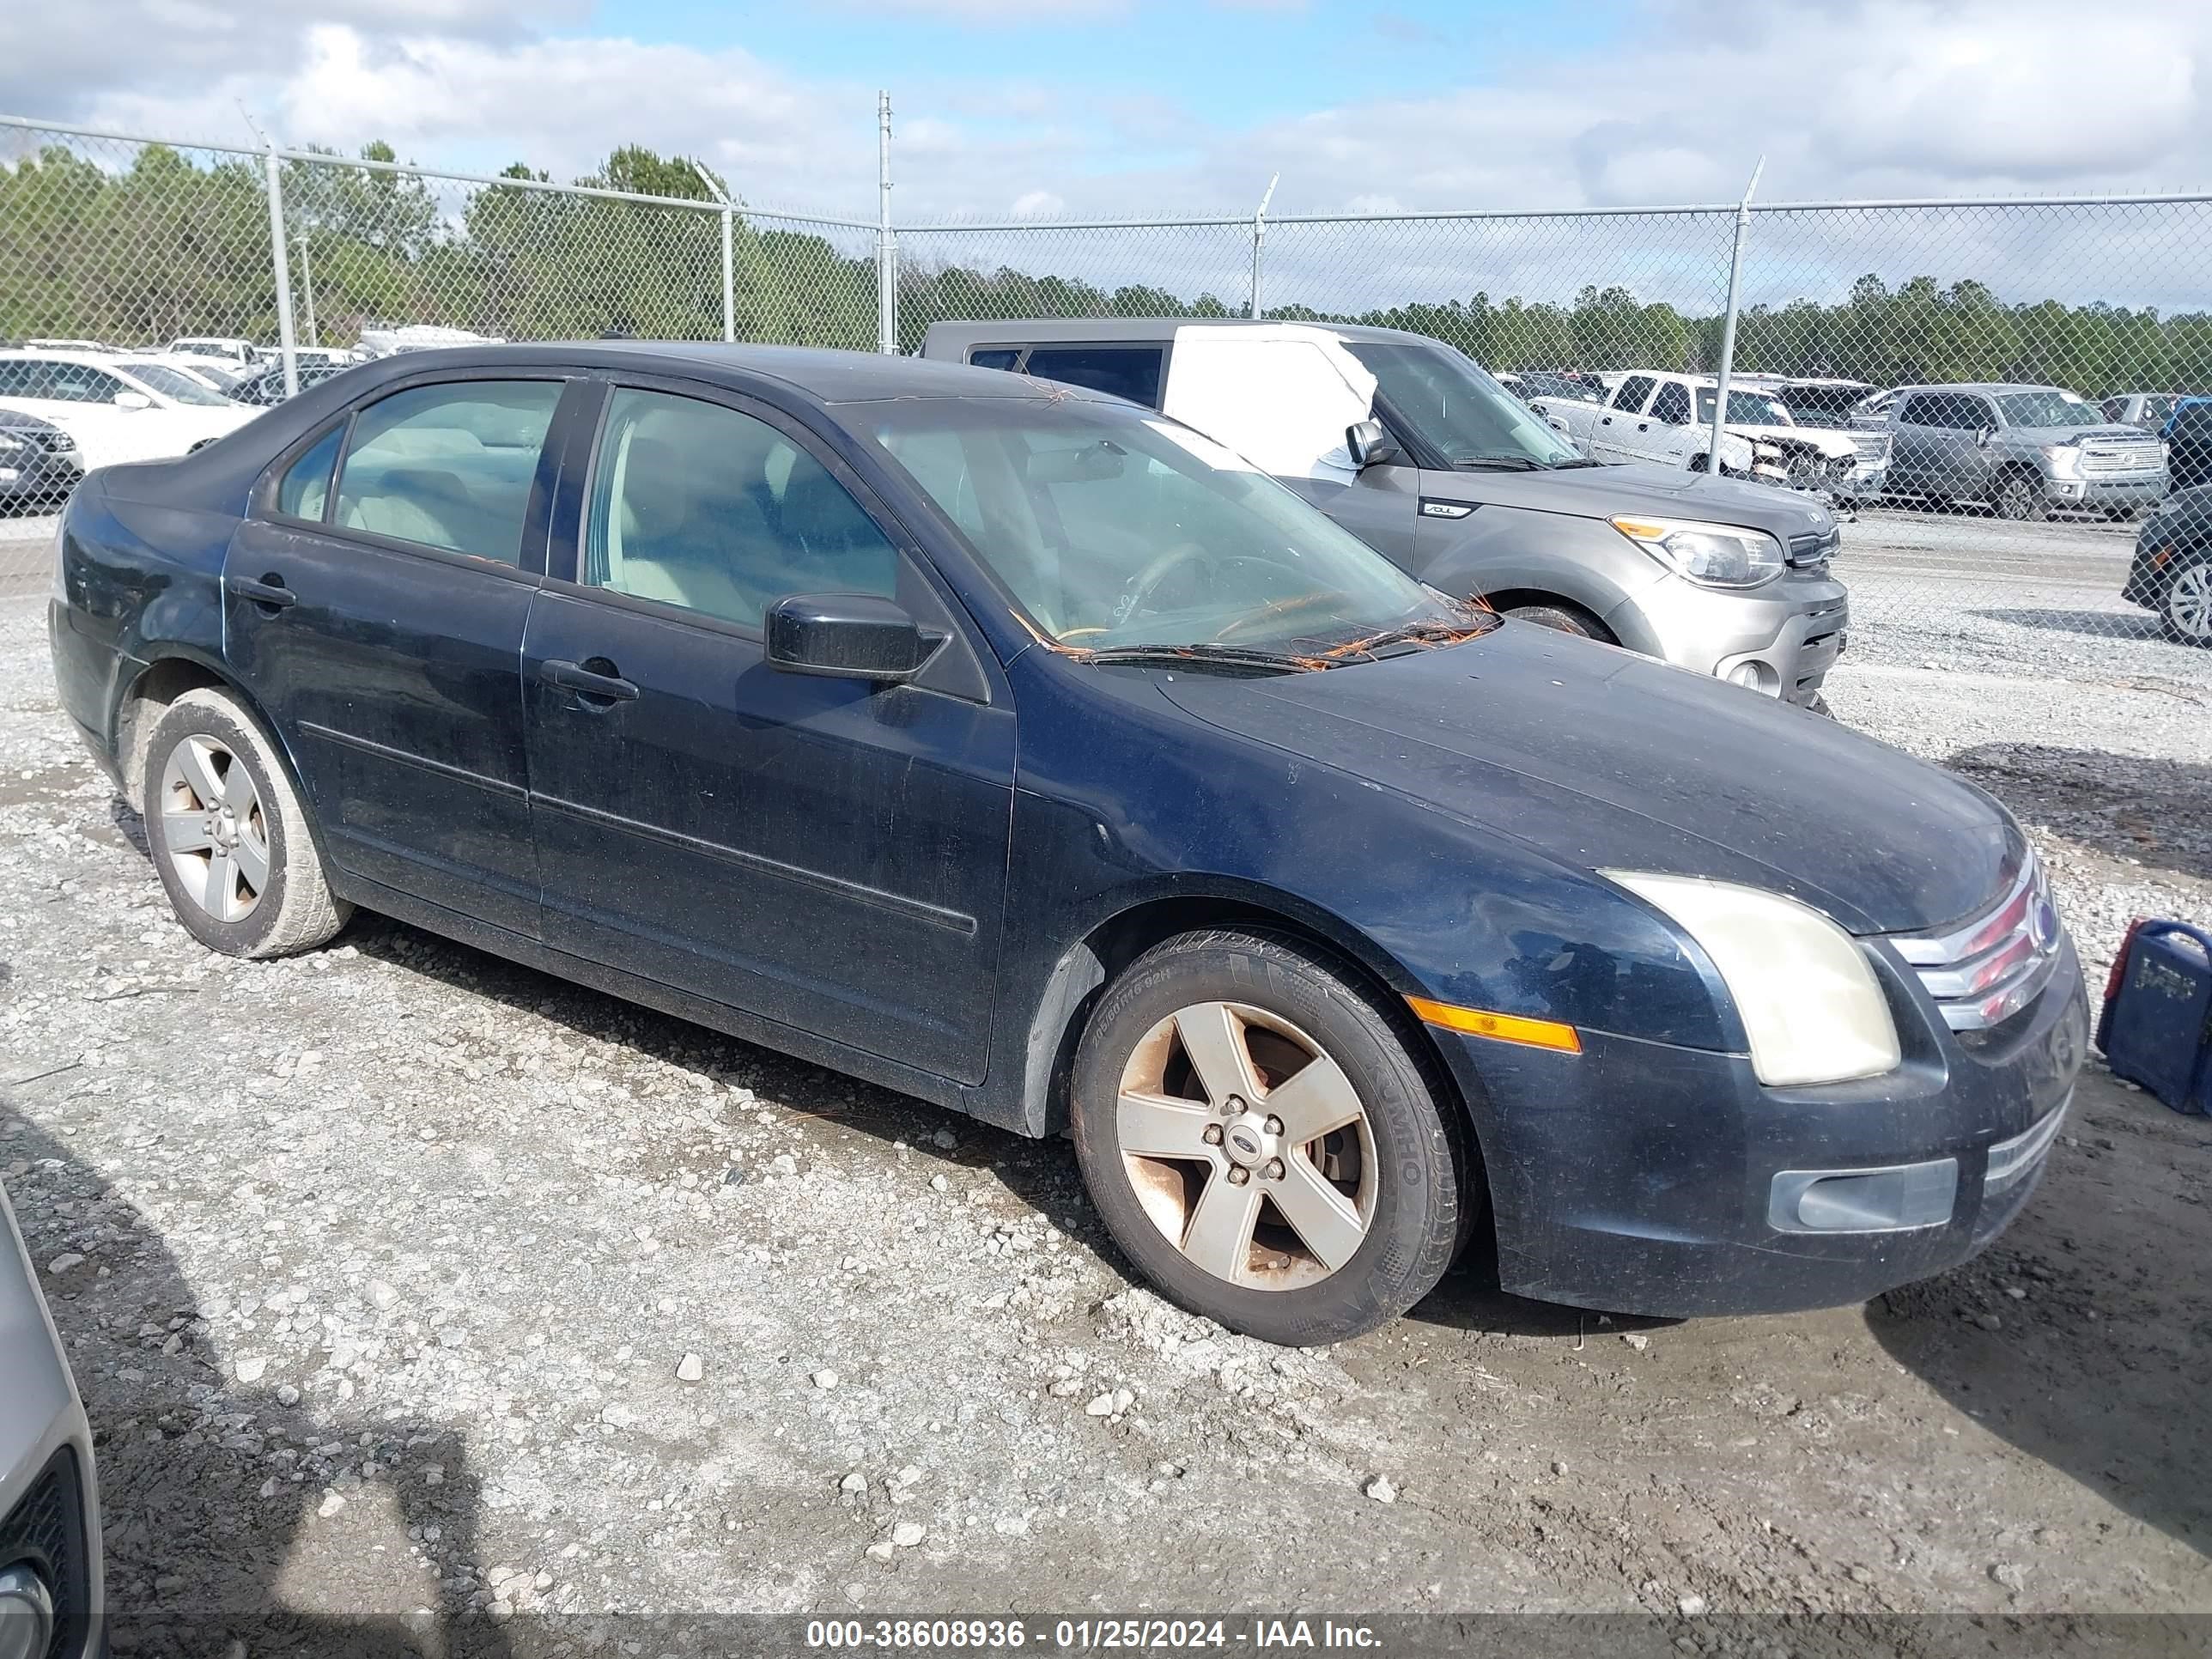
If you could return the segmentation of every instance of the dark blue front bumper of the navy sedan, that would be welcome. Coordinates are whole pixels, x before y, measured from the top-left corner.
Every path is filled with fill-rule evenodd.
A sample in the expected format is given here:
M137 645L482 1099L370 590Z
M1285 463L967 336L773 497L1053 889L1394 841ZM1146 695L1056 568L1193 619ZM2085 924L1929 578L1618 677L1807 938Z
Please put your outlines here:
M1597 1033L1579 1055L1451 1040L1475 1079L1502 1287L1767 1314L1860 1303L1989 1245L2035 1190L2088 1053L2079 958L2066 942L2037 1000L1975 1042L1900 962L1880 973L1905 1064L1856 1084L1776 1091L1743 1055Z

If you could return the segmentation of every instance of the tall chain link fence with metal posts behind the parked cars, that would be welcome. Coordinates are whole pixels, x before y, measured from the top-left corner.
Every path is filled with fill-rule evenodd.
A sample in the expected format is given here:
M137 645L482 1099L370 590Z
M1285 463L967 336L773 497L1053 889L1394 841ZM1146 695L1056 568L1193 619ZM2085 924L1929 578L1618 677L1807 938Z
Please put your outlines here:
M1734 301L1730 429L1754 476L1856 509L1838 575L1858 641L2033 664L2068 635L2126 644L2141 670L2212 664L2174 644L2212 637L2208 526L2168 507L2159 524L2190 522L2166 564L2132 568L2132 520L2212 480L2212 403L2185 403L2212 394L2212 197L1752 206L1732 292L1734 204L894 237L726 201L719 179L644 153L604 173L553 184L0 119L0 338L916 349L940 319L1356 321L1464 349L1582 447L1590 418L1564 405L1632 416L1617 425L1641 449L1597 458L1686 467L1708 447L1694 427ZM1688 380L1672 405L1668 376ZM1690 422L1666 418L1699 392Z

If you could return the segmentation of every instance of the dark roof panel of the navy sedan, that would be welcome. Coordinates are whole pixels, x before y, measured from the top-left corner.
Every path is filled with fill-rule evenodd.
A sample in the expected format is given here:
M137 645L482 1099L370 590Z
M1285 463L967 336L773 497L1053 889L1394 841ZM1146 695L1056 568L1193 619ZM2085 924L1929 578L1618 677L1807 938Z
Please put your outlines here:
M971 369L880 352L836 352L818 345L723 345L719 341L553 341L513 345L453 345L431 352L394 352L378 358L389 374L418 369L495 369L502 365L606 367L677 374L721 369L781 380L816 403L883 403L889 398L1035 398L1037 383L1002 369ZM361 385L356 380L354 385ZM1119 403L1104 392L1053 385L1053 396Z

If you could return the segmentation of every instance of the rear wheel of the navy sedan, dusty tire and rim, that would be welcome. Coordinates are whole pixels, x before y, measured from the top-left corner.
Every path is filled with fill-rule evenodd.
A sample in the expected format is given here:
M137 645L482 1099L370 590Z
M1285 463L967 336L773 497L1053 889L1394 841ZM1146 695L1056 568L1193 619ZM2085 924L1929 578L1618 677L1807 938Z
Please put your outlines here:
M330 891L292 779L234 697L188 690L146 743L146 847L184 929L223 956L323 945L352 907Z

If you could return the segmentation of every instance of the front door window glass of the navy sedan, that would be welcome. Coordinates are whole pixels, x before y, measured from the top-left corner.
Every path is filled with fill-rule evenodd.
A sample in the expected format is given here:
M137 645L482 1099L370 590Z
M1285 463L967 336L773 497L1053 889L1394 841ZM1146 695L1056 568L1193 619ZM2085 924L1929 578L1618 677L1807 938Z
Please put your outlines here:
M748 628L792 593L898 595L898 553L830 469L719 403L617 389L591 480L595 588Z

